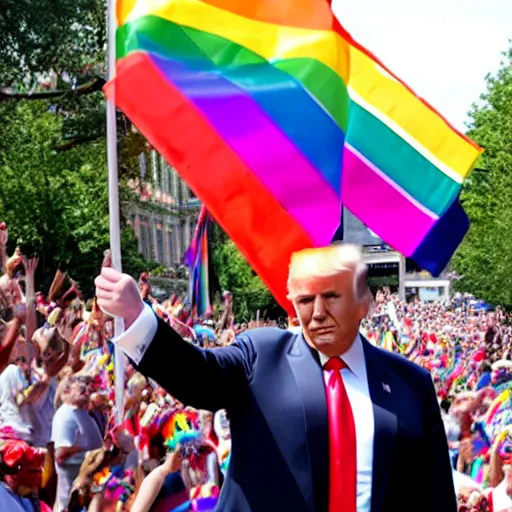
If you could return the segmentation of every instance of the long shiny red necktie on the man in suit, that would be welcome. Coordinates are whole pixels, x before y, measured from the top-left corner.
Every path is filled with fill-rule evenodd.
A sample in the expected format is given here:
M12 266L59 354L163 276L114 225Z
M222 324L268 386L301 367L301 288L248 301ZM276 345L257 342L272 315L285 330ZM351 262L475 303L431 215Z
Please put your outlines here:
M331 357L325 387L329 415L329 512L356 512L356 427L340 370L347 365Z

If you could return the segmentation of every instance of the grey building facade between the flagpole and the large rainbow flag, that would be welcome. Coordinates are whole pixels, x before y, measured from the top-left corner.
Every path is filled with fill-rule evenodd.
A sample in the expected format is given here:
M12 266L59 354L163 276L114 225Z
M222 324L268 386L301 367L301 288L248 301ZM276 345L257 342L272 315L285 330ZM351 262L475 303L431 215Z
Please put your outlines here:
M140 155L139 169L140 181L132 183L132 189L140 201L128 208L139 251L147 259L176 267L194 236L201 203L155 150Z

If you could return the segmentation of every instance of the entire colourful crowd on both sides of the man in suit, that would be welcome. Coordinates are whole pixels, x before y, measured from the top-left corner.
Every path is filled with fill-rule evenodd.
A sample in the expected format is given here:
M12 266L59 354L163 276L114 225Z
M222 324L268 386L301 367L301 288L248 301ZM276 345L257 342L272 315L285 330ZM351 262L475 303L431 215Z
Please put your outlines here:
M46 296L35 293L37 259L7 257L6 242L3 233L0 510L214 510L230 460L226 411L192 409L132 365L119 411L112 319L61 272ZM183 298L155 300L145 274L139 289L183 338L213 350L278 325L236 324L229 292L198 318ZM379 291L362 331L431 373L460 512L503 512L512 510L512 318L475 304L469 295L426 303ZM293 320L282 327L300 329Z

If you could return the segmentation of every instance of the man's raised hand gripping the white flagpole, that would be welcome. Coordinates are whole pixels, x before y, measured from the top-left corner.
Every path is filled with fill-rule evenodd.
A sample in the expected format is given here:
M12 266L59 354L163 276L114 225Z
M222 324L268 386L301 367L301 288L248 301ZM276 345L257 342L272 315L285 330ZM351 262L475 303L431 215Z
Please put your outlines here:
M113 268L103 267L94 283L98 306L110 316L123 318L128 329L144 310L135 280Z

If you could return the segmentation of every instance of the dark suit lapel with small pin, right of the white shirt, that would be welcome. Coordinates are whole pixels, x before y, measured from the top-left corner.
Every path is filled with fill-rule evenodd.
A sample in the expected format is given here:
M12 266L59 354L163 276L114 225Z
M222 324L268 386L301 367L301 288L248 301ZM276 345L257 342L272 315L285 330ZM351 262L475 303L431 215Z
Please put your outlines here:
M397 418L393 389L387 367L379 351L363 339L368 387L373 403L375 434L373 440L371 512L382 510L396 444Z

